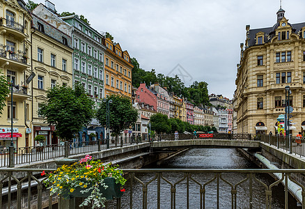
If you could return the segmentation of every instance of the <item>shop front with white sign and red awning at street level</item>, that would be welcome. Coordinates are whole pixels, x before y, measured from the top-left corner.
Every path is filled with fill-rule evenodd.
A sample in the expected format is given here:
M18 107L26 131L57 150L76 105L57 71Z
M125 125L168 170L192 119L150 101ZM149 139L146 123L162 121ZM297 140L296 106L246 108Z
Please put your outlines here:
M17 127L13 127L13 144L18 147L18 138L22 137ZM8 148L12 140L12 132L10 127L0 127L0 148Z

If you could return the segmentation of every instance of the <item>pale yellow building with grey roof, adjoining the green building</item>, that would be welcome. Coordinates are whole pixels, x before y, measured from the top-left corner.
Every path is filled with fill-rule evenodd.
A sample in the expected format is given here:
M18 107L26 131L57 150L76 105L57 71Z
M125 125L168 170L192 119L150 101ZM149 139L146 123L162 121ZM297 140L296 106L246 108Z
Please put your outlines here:
M38 114L47 98L47 90L56 85L72 86L72 26L40 4L33 10L32 52L33 72L33 137L44 135L46 144L58 144L54 125ZM43 19L42 19L43 18ZM48 24L52 21L53 25ZM58 24L56 24L56 23Z

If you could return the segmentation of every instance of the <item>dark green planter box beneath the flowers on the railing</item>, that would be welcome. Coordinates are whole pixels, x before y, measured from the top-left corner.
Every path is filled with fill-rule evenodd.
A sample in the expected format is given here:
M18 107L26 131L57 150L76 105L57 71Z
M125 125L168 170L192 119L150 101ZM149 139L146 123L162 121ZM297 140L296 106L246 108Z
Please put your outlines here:
M100 192L102 193L102 196L104 196L106 199L112 200L114 198L120 198L121 196L123 196L124 192L120 192L120 184L116 184L116 180L114 180L114 178L104 178L104 183L108 187L107 189L104 189L103 186L100 186ZM81 191L84 191L85 189L86 188L76 187L74 192L70 193L70 191L66 191L61 195L63 196L63 199L72 199L74 197L86 198L87 196L89 196L89 194L91 194L92 190L90 190L90 192L81 193Z

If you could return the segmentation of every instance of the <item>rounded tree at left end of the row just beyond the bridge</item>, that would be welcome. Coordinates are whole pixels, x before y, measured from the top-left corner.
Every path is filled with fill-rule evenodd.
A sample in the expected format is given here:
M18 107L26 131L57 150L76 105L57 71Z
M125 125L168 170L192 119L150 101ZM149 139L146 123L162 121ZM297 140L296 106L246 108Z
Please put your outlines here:
M151 130L155 130L157 134L171 132L171 123L166 115L157 113L150 117Z

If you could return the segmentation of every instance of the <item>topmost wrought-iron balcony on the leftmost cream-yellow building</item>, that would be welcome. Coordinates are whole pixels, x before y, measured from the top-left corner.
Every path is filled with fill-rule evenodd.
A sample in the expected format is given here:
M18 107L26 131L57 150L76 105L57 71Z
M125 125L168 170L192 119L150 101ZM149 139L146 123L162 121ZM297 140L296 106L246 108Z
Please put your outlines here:
M24 40L24 38L29 37L24 33L24 26L22 24L12 20L6 20L5 18L0 19L0 33L6 35L13 34L19 40Z

